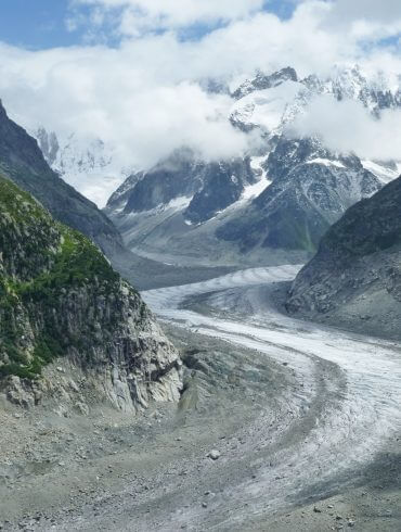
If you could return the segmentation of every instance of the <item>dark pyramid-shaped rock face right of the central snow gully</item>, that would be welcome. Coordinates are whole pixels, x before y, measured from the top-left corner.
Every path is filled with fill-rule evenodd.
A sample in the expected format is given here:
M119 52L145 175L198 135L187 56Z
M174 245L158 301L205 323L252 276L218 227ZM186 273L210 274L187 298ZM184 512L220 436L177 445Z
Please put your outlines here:
M312 139L280 139L266 169L272 179L246 216L218 229L243 252L256 245L314 252L345 211L381 187L355 156L336 156Z

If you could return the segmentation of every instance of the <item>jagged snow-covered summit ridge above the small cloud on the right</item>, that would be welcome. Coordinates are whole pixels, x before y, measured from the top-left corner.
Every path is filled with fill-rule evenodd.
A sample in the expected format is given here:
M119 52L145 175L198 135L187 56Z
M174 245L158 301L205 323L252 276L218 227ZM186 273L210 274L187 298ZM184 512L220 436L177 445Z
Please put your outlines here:
M263 132L281 135L321 94L360 101L375 114L383 109L401 107L400 83L381 74L367 76L359 66L335 67L331 76L312 74L298 80L293 68L284 68L271 75L258 73L244 81L233 92L236 101L230 121L243 131L260 128Z

